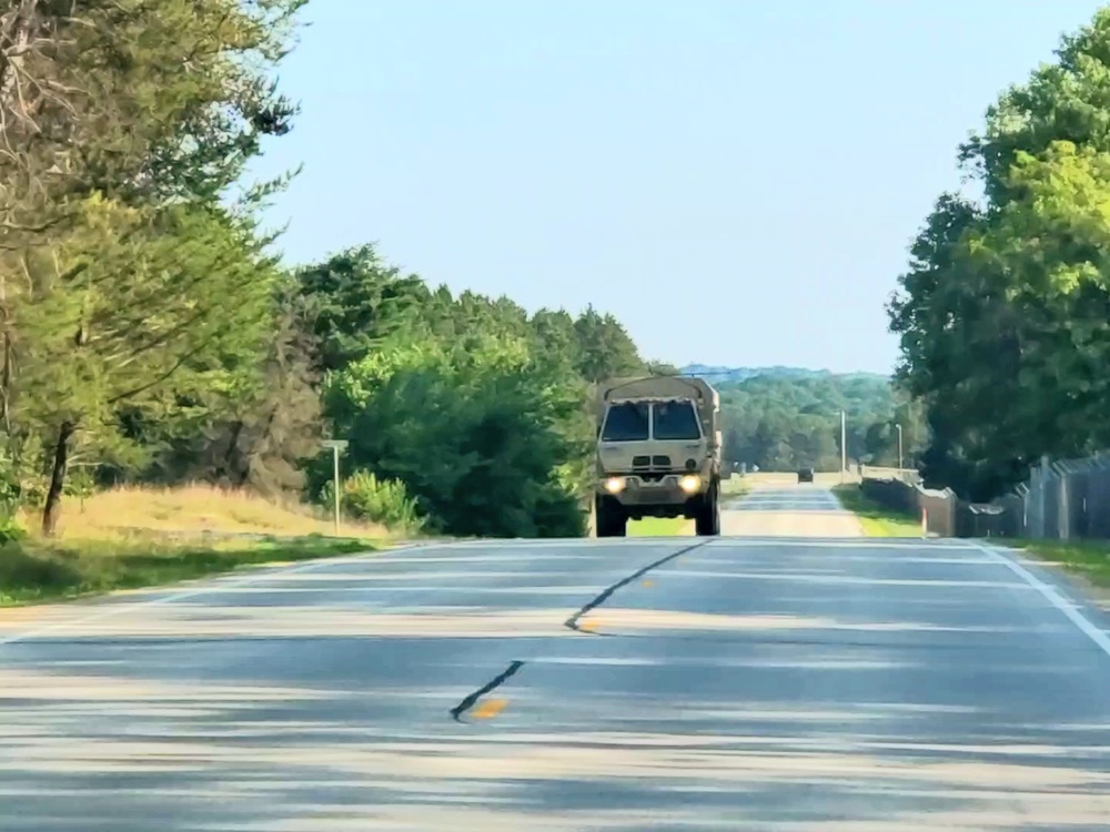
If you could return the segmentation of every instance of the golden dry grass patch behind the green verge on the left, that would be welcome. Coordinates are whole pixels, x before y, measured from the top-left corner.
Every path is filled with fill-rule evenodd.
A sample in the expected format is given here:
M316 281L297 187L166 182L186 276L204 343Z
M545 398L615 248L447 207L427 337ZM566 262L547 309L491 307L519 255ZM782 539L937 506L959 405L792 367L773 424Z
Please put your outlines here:
M27 528L38 528L38 517L21 519ZM68 497L62 505L62 539L103 540L137 530L275 537L334 535L331 519L314 507L273 503L248 491L202 484L179 488L127 486L83 500ZM344 522L340 536L384 538L389 531L380 526Z

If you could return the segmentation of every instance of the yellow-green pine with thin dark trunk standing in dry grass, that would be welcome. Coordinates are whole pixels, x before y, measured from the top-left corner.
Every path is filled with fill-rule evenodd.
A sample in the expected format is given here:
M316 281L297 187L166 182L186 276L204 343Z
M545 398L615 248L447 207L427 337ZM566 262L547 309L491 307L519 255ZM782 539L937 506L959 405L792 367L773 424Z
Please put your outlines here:
M168 404L171 378L179 388L190 377L233 386L268 335L272 272L226 214L174 206L151 220L93 197L78 227L24 255L28 288L16 305L28 347L16 353L14 425L51 448L47 534L79 434L111 440L118 408Z

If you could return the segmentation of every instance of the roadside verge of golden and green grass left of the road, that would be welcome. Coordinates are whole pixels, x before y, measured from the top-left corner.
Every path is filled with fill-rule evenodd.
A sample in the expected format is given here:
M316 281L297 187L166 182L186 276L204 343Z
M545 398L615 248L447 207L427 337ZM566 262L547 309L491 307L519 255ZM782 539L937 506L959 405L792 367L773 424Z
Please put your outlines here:
M380 548L396 535L332 522L312 508L243 491L115 488L68 498L59 535L0 546L0 606L164 586L244 567ZM21 517L38 528L38 517ZM334 535L334 536L333 536Z

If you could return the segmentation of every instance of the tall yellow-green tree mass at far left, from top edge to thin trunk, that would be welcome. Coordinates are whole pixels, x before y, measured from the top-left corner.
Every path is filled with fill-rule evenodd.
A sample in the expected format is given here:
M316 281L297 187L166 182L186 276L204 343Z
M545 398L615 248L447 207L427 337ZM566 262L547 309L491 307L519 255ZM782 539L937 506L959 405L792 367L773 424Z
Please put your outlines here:
M222 201L289 128L269 73L301 4L0 17L0 130L20 149L0 159L2 417L13 447L44 439L48 534L74 449L108 453L121 416L173 410L190 384L233 396L258 365L274 272L251 217L283 180Z

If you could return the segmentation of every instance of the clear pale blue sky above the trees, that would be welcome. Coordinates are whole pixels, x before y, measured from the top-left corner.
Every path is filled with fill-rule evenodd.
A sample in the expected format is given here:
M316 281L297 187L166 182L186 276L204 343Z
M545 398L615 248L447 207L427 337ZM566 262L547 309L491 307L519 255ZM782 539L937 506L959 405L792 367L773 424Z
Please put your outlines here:
M1090 0L311 0L291 262L593 303L648 357L886 372L956 145Z

